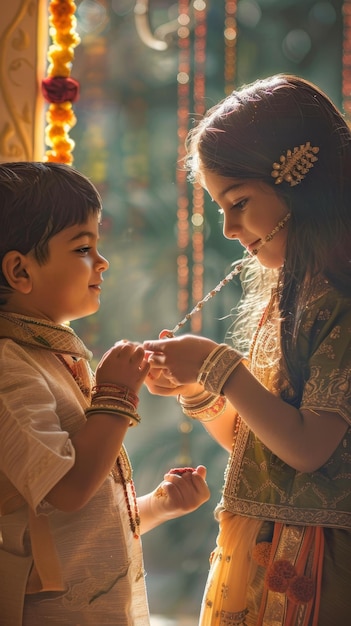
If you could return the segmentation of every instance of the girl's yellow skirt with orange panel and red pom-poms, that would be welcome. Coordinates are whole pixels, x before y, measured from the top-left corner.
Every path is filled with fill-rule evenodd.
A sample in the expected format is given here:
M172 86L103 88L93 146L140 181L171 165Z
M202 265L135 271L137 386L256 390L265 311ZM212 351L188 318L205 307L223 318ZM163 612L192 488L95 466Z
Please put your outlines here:
M219 514L199 626L346 626L351 533Z

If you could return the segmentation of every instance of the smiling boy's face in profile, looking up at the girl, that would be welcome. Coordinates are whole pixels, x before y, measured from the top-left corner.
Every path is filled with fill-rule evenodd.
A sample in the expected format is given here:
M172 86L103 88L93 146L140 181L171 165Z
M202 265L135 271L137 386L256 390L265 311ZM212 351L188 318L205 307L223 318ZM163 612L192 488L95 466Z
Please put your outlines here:
M39 265L30 255L30 315L56 324L95 313L108 261L97 250L98 216L65 228L49 241L49 257Z

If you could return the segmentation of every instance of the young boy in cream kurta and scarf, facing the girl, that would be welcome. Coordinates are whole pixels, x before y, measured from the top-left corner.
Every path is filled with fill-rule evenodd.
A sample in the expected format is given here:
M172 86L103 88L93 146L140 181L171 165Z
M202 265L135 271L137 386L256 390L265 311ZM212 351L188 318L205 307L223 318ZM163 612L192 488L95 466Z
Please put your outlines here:
M203 466L136 498L144 350L118 341L93 377L66 324L99 308L100 217L73 168L0 165L1 626L147 626L140 535L209 498Z

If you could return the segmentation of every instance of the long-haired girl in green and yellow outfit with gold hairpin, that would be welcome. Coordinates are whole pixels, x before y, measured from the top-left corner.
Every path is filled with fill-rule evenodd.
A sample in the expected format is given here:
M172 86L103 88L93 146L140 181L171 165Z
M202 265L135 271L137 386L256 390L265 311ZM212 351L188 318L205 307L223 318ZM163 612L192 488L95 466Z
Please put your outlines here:
M200 624L341 626L351 615L350 130L316 86L277 75L205 115L188 167L251 258L234 348L167 331L144 344L149 390L178 395L230 452Z

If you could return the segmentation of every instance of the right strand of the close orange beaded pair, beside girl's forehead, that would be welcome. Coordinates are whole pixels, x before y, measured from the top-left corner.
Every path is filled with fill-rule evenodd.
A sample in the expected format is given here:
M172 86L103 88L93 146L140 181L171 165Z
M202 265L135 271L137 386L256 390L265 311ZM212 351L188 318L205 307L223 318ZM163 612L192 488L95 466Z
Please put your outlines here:
M205 65L206 65L206 14L204 0L195 0L194 9L194 85L193 102L196 119L205 113ZM204 284L204 189L199 183L193 185L192 210L192 302L203 297ZM200 333L202 312L198 311L191 319L191 330Z

